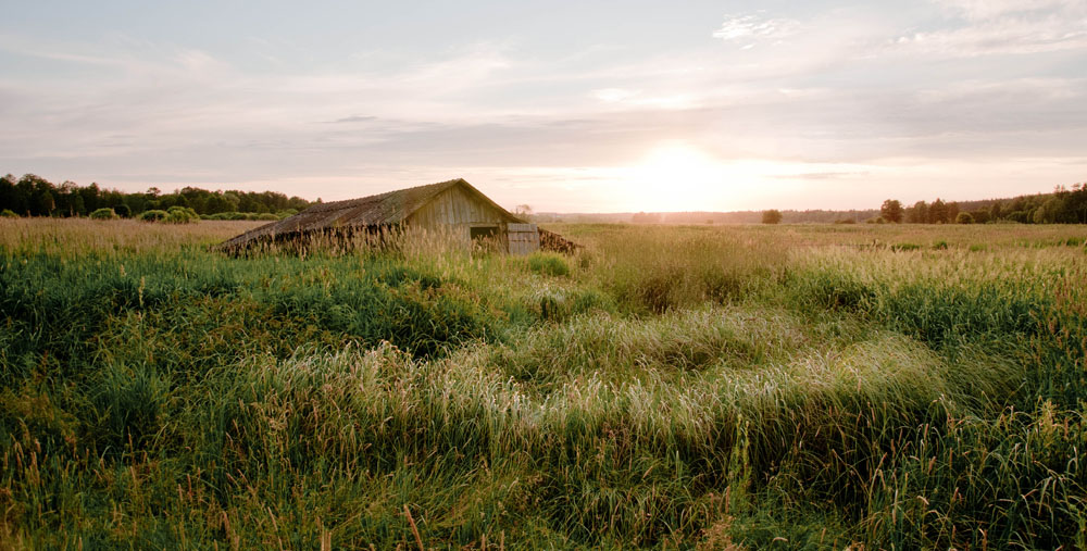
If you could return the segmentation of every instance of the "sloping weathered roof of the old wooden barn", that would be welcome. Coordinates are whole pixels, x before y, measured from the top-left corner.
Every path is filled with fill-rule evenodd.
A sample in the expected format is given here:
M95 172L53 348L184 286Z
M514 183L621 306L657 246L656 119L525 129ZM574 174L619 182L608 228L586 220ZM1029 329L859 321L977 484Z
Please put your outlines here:
M412 213L428 203L438 193L454 186L462 186L466 191L478 196L486 203L509 217L510 222L523 222L491 201L463 178L457 178L426 186L387 191L360 199L315 204L293 216L250 229L240 236L224 241L220 247L223 249L234 249L245 247L254 240L272 239L277 236L291 234L300 235L324 229L399 224L408 220Z

